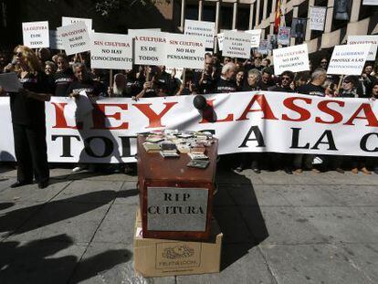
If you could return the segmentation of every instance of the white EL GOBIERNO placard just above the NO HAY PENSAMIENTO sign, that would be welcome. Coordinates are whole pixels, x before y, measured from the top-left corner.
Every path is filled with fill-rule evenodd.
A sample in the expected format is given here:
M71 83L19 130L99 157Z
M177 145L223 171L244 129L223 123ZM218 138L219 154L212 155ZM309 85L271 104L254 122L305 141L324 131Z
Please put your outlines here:
M215 23L185 20L184 34L193 37L204 37L206 48L214 48Z

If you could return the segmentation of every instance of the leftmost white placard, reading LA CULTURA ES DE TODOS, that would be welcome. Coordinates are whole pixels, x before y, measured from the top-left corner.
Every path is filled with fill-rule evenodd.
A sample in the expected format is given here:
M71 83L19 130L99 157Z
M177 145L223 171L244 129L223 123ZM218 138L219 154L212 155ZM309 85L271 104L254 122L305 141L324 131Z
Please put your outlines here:
M30 48L49 47L48 22L22 23L24 46Z

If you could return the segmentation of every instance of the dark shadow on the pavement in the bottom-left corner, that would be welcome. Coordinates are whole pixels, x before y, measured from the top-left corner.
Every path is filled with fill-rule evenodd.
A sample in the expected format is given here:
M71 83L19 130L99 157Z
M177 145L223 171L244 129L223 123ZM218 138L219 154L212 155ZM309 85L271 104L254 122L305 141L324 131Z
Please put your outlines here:
M26 244L1 242L0 283L67 283L79 263L82 272L74 276L73 282L77 283L131 258L131 252L127 249L112 249L79 262L81 252L79 256L69 255L69 250L67 254L62 252L72 250L69 248L72 245L73 241L67 235Z

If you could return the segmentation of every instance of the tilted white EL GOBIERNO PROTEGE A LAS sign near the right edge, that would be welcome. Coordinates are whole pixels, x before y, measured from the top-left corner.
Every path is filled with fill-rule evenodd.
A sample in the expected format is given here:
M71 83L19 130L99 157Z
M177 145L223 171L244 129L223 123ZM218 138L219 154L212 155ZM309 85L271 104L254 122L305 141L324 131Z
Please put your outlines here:
M360 76L370 47L371 44L336 46L333 49L327 74Z

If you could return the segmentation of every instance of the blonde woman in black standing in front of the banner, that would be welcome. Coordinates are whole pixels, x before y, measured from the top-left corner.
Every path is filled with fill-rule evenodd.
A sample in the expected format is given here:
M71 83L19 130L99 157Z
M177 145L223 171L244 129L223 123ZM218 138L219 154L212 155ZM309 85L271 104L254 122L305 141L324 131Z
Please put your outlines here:
M11 187L32 184L34 175L38 187L45 188L49 180L45 101L53 88L31 48L16 47L14 62L8 71L16 72L23 88L9 93L17 160L17 181Z

